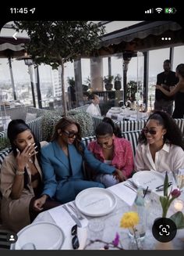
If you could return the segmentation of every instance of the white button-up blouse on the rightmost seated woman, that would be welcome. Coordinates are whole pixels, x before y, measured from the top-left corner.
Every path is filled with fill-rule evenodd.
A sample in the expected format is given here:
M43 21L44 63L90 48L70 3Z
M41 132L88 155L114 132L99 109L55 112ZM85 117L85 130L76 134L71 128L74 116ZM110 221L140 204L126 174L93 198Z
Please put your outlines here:
M149 144L139 143L134 164L135 171L176 171L184 168L184 151L180 146L165 143L162 149L155 153L155 160L153 160Z

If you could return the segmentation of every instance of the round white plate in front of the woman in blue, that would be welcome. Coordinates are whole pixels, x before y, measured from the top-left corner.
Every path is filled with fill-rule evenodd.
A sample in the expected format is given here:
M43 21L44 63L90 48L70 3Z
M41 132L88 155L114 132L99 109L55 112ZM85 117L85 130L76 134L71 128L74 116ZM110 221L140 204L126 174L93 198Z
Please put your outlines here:
M84 189L76 196L76 207L88 216L108 215L116 206L115 196L102 188Z

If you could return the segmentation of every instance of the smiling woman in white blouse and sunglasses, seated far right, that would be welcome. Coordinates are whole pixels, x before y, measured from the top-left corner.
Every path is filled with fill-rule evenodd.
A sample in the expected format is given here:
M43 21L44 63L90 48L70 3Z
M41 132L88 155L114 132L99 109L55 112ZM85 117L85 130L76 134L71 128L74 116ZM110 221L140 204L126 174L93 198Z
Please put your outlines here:
M135 171L176 171L184 168L182 133L167 113L155 111L143 128L136 148Z

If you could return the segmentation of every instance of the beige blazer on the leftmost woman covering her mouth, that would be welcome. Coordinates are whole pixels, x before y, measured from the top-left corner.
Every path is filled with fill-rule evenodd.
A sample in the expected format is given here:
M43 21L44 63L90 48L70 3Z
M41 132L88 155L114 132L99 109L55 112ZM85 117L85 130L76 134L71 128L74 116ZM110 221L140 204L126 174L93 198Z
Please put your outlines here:
M43 146L43 143L41 143L41 146ZM34 164L42 179L41 168L37 162L37 157L35 157ZM30 224L29 206L30 200L34 197L34 189L31 186L31 173L28 164L26 168L29 175L28 189L23 189L21 196L17 200L12 200L10 197L12 183L17 169L16 159L12 152L5 157L1 168L0 189L2 192L2 223L5 227L14 232L18 232L20 229Z

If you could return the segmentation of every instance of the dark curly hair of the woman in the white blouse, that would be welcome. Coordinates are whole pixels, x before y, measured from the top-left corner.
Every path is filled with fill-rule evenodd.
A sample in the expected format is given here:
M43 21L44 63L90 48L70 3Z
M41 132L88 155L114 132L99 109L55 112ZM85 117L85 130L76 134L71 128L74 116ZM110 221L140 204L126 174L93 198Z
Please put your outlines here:
M156 120L158 124L162 125L163 128L166 129L167 132L164 135L164 142L168 141L176 146L181 146L182 150L184 150L182 132L179 130L178 125L175 124L174 119L172 119L169 114L165 113L164 111L154 111L154 114L150 115L147 122L152 119ZM146 126L147 123L144 127ZM142 144L147 144L147 138L144 135L144 132L141 132L139 142Z

